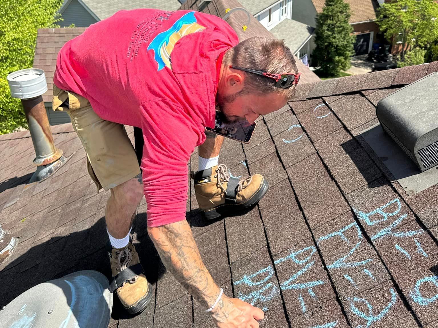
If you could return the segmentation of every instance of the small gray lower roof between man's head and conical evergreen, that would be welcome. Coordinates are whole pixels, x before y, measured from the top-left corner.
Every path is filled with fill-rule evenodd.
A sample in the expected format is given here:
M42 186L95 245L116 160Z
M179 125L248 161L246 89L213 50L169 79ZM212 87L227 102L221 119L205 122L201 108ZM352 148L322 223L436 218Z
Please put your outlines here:
M292 53L295 53L302 46L315 29L309 25L286 18L277 24L270 31L276 38L284 39ZM307 50L307 49L306 49Z

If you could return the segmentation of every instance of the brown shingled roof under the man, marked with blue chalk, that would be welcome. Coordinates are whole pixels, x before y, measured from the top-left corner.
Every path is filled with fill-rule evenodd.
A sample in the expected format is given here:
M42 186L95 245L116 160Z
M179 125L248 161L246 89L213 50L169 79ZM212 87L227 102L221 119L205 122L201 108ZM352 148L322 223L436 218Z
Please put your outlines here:
M376 326L436 326L438 185L407 196L359 135L377 122L381 98L433 71L438 62L302 84L294 101L258 120L251 143L226 139L220 162L233 176L269 181L259 205L242 216L205 221L189 182L187 220L208 270L226 295L266 310L262 327L365 327L371 318ZM57 147L75 154L27 188L35 171L28 131L0 136L0 223L20 237L0 266L0 307L70 272L110 276L109 192L95 193L71 124L52 132ZM197 163L195 151L189 170ZM134 318L115 301L109 327L214 328L159 261L146 207L143 200L133 241L154 298Z

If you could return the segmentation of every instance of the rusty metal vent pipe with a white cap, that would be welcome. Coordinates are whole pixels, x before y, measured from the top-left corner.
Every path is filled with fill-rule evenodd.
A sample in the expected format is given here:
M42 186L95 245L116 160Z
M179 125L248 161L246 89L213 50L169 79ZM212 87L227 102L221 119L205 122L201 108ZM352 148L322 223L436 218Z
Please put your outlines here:
M67 161L62 155L63 151L53 143L52 130L42 100L42 94L47 91L46 75L43 70L26 68L9 74L7 82L12 97L21 99L35 149L33 163L36 171L29 183L42 181Z

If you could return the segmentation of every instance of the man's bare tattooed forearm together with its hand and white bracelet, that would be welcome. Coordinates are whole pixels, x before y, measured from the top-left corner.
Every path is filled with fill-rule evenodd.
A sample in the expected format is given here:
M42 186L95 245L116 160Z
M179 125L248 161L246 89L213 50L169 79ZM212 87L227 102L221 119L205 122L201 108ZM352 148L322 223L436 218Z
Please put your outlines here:
M202 306L211 307L220 289L202 262L187 221L148 227L148 234L166 268ZM258 327L263 318L260 309L225 295L211 314L220 328Z

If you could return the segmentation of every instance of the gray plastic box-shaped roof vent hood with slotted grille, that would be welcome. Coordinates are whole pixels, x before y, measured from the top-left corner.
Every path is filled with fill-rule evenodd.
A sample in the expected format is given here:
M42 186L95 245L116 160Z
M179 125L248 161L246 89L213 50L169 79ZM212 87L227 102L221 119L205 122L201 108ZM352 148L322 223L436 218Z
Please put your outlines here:
M438 164L438 73L417 80L379 101L383 129L420 168Z

